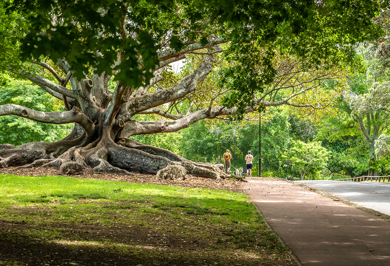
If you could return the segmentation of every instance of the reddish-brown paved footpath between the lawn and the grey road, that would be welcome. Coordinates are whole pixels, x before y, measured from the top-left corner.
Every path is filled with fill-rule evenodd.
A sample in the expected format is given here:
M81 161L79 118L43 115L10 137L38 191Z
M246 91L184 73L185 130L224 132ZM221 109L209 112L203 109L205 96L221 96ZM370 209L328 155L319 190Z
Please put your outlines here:
M246 180L245 192L303 266L390 266L390 222L287 180Z

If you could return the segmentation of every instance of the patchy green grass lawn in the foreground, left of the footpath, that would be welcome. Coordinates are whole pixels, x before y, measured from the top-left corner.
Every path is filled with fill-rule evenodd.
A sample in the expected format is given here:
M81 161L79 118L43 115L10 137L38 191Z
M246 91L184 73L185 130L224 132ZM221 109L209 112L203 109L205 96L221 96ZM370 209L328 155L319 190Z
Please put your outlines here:
M3 265L292 264L242 193L0 175L0 217Z

